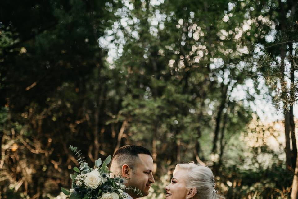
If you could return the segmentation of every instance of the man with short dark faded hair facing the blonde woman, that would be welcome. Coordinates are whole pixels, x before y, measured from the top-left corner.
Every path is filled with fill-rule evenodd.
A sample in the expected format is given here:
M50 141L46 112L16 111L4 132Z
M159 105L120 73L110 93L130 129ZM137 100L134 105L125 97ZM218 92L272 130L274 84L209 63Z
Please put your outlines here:
M153 159L150 151L142 146L126 145L120 147L114 154L110 170L114 176L127 178L125 186L137 188L142 196L147 196L151 183L154 183L152 175ZM127 190L128 199L141 197L138 193Z

